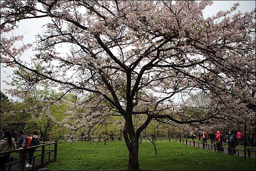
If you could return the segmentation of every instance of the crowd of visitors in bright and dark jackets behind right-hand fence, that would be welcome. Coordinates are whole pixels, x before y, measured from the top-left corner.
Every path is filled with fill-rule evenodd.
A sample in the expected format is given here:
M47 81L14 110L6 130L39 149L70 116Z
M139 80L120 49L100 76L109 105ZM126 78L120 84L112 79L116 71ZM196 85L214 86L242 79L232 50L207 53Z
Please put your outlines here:
M193 130L191 132L191 138L195 139L195 132ZM224 151L221 147L223 147L223 142L226 142L228 146L232 148L231 154L233 155L236 155L236 146L242 145L243 143L243 135L239 130L237 132L231 130L226 136L222 136L220 130L216 131L216 135L212 131L210 131L209 134L207 134L206 131L202 131L201 133L198 131L198 140L201 139L204 147L207 147L207 139L209 139L211 145L215 142L219 142L219 147L217 148L219 148L220 151ZM246 131L246 139L244 139L244 142L253 147L253 137L248 131Z

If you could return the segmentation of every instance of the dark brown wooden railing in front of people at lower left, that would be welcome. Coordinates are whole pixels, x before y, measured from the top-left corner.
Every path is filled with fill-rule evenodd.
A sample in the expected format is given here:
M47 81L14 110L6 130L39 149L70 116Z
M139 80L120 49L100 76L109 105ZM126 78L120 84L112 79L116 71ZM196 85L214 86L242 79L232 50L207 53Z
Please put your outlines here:
M16 149L16 150L1 152L0 153L1 156L5 155L5 154L11 155L12 153L17 153L17 152L20 153L20 161L11 162L11 163L7 164L6 167L8 168L8 170L10 171L12 169L13 165L20 163L20 170L23 171L25 169L25 163L26 163L27 159L32 159L32 168L31 168L32 170L34 170L34 168L37 168L37 167L43 168L44 165L47 164L48 162L51 162L51 161L55 162L57 160L57 145L58 145L58 142L55 141L55 142L40 142L40 143L41 143L41 145L35 145L35 146L32 146L32 147L28 147L28 148L19 148L19 149ZM54 149L53 150L50 150L50 149L46 150L45 147L49 146L49 148L50 148L50 145L54 145ZM37 150L38 148L42 148L42 149ZM35 149L35 151L41 151L41 154L34 155L33 157L27 158L26 157L26 151L27 150L32 150L32 149ZM50 158L51 153L54 153L53 160ZM48 161L47 161L47 159L45 159L47 154L48 154ZM41 156L40 165L35 165L35 158L40 157L40 156Z

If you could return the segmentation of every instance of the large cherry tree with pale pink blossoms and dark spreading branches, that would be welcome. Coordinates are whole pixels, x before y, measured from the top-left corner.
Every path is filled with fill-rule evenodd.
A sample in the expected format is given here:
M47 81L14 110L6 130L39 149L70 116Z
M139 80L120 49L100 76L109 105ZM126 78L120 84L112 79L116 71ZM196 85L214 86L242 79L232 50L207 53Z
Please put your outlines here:
M49 81L55 88L76 90L80 96L91 93L95 101L105 101L111 114L125 120L128 167L139 170L139 136L152 119L201 123L232 115L230 105L242 106L235 112L255 116L255 10L235 12L239 4L234 4L205 19L203 10L211 4L4 1L1 63L22 68L24 72L15 73L26 80L27 88ZM22 20L44 17L51 22L34 45L16 47L23 36L6 36ZM36 55L29 64L21 57L31 46ZM64 54L60 46L69 52ZM214 99L200 118L181 115L182 99L181 104L173 101L177 94L193 91ZM139 115L145 120L135 128L133 120Z

